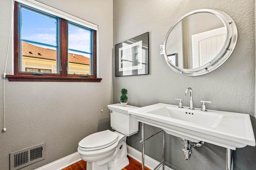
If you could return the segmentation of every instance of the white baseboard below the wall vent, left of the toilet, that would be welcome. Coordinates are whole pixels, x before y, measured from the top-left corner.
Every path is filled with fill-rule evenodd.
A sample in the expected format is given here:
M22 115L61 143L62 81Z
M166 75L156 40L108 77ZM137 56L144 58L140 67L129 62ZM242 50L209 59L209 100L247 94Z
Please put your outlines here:
M64 158L56 160L35 170L62 170L78 161L82 160L78 152L70 154Z

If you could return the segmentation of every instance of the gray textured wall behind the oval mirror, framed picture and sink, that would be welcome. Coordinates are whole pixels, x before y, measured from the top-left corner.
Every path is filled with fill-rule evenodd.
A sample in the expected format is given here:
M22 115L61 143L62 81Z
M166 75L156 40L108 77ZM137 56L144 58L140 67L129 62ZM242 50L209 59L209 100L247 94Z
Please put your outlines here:
M220 68L197 77L186 77L172 71L160 55L170 27L184 14L209 8L225 12L238 28L238 43L231 57ZM119 102L120 90L128 89L128 104L147 106L156 103L178 104L188 87L193 89L194 106L202 107L200 100L212 101L209 109L246 113L251 115L255 132L255 17L254 0L114 0L114 44L142 33L150 33L150 74L115 77L113 68L114 103ZM114 57L113 57L114 63ZM114 67L114 66L113 66ZM145 126L146 137L158 131ZM226 149L206 143L194 148L190 161L183 156L179 138L166 135L166 161L184 170L225 169ZM140 132L128 137L128 145L141 150ZM146 141L145 153L161 160L161 135ZM235 170L256 169L256 147L236 149Z

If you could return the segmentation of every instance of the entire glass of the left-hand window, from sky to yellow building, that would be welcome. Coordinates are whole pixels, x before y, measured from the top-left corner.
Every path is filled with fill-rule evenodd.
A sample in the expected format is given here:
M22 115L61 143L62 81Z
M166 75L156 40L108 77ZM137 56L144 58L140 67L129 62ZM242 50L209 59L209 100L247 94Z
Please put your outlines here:
M20 71L58 73L57 18L21 6Z

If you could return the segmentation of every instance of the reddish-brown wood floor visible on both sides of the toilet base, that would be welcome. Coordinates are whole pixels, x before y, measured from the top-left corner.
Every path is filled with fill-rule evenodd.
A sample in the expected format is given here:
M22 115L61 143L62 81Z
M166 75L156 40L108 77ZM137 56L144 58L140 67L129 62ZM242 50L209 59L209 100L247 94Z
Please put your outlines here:
M128 159L130 164L122 170L141 170L140 162L134 160L130 156L128 156ZM73 165L68 166L67 168L64 168L63 170L86 170L86 162L84 160L81 160L79 162L76 162ZM150 170L150 169L145 167L145 170Z

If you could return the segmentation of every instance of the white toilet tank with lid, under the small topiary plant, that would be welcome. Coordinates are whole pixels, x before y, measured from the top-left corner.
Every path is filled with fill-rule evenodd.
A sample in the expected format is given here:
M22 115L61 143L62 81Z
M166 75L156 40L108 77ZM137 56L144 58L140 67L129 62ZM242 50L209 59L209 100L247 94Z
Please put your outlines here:
M126 135L131 136L138 132L139 122L137 119L128 114L129 110L136 109L138 107L121 104L108 105L110 109L110 126L112 129Z

